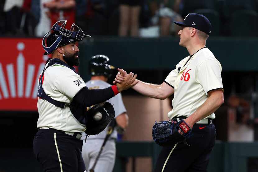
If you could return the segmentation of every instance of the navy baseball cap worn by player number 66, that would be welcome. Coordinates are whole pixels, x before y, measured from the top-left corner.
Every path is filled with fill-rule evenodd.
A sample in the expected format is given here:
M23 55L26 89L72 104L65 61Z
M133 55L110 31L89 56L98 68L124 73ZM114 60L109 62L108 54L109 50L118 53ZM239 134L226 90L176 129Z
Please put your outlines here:
M210 35L211 24L204 15L190 13L186 16L183 22L174 21L174 23L178 26L193 27Z

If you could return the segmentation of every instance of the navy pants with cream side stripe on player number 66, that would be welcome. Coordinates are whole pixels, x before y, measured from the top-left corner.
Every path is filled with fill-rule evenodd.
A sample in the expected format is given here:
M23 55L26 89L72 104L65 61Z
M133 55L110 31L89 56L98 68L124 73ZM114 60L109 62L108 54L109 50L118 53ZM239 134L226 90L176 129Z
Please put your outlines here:
M185 143L163 147L155 172L207 172L216 130L213 124L194 124Z

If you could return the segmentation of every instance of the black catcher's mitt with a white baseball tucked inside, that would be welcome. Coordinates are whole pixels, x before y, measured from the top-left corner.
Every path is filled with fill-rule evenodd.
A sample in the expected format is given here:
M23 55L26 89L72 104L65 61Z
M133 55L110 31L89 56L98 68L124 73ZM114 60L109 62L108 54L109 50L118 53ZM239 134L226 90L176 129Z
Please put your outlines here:
M94 119L95 114L101 113L102 118L99 120ZM115 110L113 105L109 102L105 101L94 105L87 111L88 121L86 124L85 133L87 135L95 135L102 132L108 125L108 123L114 119L115 117Z

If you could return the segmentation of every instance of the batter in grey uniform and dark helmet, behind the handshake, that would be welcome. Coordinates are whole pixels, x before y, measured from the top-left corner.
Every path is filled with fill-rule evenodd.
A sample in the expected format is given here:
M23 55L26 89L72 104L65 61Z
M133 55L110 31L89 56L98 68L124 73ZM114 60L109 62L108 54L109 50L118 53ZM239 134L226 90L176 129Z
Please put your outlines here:
M109 64L109 58L105 55L95 55L90 58L89 71L91 75L90 81L86 82L86 86L89 89L102 89L111 86L107 83L108 78L112 76L114 67ZM123 104L122 95L117 94L108 100L115 109L115 120L117 123L118 131L124 131L128 125L128 116ZM100 148L104 142L108 132L108 126L103 132L98 135L93 135L87 138L85 142L86 134L82 133L82 157L86 166L86 169L91 169L94 165L95 159L98 156ZM115 164L116 157L116 145L117 130L114 130L108 141L106 142L104 149L102 150L96 166L95 172L112 172Z

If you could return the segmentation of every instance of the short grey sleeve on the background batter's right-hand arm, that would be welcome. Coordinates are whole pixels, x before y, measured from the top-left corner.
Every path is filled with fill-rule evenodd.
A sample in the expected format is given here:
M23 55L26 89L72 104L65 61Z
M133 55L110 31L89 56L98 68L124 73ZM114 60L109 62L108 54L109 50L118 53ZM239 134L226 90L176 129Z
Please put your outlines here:
M121 93L119 93L115 97L112 97L111 99L109 99L108 102L111 103L112 105L114 105L113 107L115 109L115 117L126 112Z

